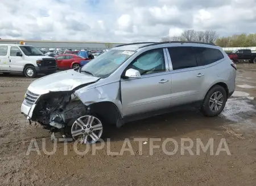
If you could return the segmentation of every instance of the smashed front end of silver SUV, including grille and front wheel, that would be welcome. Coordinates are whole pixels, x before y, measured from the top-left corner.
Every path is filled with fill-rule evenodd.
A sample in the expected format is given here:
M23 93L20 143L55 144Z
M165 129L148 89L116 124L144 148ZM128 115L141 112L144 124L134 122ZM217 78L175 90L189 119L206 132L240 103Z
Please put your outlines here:
M61 131L62 137L72 135L73 139L81 139L84 143L96 142L102 134L102 124L90 115L86 106L75 94L76 88L66 92L49 92L35 94L27 91L22 104L22 113L30 121L40 123L51 133ZM88 138L89 137L89 138Z

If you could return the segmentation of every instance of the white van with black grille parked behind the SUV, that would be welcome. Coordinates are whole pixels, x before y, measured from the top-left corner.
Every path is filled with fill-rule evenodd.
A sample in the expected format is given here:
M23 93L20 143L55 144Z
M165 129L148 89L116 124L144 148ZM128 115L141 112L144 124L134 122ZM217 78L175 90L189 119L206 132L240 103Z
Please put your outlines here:
M23 72L26 77L36 77L57 71L56 60L45 56L39 49L22 44L0 44L0 73Z

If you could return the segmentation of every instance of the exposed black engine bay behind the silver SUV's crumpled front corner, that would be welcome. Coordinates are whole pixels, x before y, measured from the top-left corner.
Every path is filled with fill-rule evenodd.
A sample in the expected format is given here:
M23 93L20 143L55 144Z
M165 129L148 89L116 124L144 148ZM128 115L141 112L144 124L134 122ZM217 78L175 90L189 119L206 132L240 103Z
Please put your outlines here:
M41 125L63 129L72 119L77 119L86 113L86 106L74 93L51 92L39 97L31 120Z

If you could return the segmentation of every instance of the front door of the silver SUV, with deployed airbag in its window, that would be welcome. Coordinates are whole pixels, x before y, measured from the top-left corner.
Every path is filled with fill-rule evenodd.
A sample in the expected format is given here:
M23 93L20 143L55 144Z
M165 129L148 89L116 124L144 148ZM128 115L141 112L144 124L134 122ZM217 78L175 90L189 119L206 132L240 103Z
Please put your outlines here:
M172 81L166 64L163 48L159 48L142 53L126 68L138 70L141 78L121 79L124 116L170 106Z

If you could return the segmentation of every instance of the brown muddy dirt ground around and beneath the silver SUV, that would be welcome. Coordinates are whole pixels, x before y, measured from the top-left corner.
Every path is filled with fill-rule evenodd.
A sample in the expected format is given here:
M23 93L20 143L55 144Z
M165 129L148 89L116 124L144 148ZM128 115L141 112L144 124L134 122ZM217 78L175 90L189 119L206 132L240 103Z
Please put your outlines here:
M256 64L238 64L237 92L218 117L207 118L189 109L110 130L110 150L121 152L123 141L129 138L134 155L129 151L109 155L106 146L93 155L92 145L88 153L77 155L74 142L66 146L58 142L53 155L45 154L45 149L53 149L48 131L35 123L29 125L20 114L32 81L0 74L0 185L256 185ZM160 138L154 144L161 146L172 138L178 149L167 155L162 147L154 148L151 155L152 143L143 143L141 150L134 138ZM181 138L193 141L193 155L188 151L182 155ZM209 149L197 154L197 138L204 145L213 139L214 154ZM36 151L26 155L31 139L40 155ZM227 151L216 155L222 139L230 155ZM80 151L84 147L77 145ZM166 144L168 151L174 147L174 143Z

